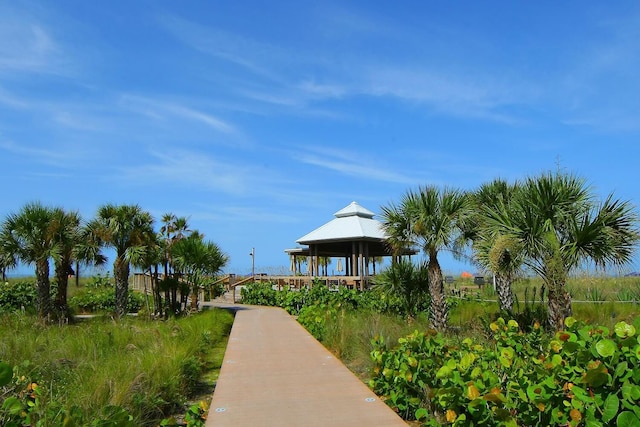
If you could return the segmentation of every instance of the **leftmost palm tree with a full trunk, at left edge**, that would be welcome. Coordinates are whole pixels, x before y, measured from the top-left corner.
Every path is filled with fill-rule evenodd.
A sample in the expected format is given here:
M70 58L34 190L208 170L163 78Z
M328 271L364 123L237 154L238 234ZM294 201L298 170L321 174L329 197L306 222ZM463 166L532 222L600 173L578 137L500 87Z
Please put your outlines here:
M53 210L39 202L26 204L18 213L9 214L2 224L2 253L25 264L35 264L37 301L40 319L51 315L49 259L56 255L52 232Z

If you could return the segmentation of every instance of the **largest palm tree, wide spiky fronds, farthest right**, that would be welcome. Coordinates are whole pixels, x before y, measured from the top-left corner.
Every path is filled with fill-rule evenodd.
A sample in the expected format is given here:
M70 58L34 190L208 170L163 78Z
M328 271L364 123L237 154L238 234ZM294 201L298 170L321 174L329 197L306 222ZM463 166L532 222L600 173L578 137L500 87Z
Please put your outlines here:
M621 266L632 259L638 216L610 194L597 202L581 178L560 172L528 178L506 205L488 209L488 224L522 251L524 264L547 288L549 323L559 330L571 315L567 277L587 262Z

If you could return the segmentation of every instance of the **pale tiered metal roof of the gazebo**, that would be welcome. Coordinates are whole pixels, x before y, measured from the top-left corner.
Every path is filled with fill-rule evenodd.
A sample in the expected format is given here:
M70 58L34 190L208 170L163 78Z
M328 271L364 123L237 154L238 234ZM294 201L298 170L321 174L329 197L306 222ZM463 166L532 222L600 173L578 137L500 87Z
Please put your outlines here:
M382 223L373 219L374 213L357 202L351 202L334 214L335 218L302 236L296 242L301 245L339 240L379 240L387 239Z

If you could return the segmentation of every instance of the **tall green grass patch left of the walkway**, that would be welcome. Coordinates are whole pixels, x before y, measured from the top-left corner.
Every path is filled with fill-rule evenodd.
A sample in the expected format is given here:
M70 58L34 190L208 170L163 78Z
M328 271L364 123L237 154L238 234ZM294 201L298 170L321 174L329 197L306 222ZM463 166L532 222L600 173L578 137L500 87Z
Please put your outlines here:
M0 360L47 390L52 402L85 414L127 409L136 425L157 425L221 363L233 316L211 310L166 322L108 318L46 326L22 314L0 318Z

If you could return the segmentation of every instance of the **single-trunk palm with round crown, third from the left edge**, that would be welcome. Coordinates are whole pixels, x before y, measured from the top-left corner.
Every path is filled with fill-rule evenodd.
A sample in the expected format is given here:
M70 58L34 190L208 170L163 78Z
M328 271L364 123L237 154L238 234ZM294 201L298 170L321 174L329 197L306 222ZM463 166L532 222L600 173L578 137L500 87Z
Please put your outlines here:
M138 205L107 204L98 209L89 228L99 241L116 251L116 317L122 317L127 313L130 263L138 262L153 240L153 218Z

